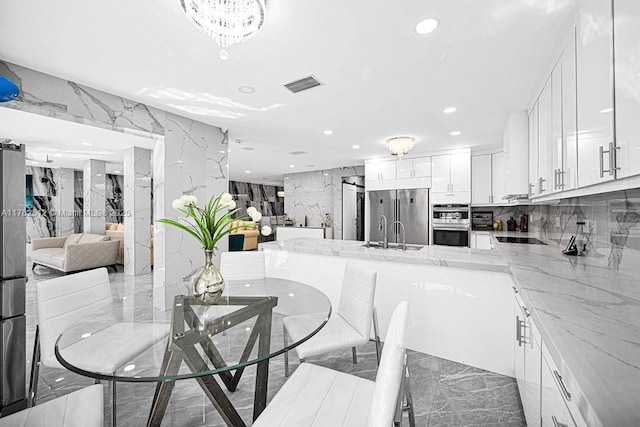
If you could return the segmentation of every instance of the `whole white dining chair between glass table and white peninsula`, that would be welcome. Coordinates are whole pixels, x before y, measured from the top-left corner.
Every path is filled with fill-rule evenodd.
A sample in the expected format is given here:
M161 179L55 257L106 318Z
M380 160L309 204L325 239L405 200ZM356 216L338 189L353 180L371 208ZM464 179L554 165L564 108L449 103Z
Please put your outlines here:
M298 358L306 358L342 350L351 347L353 363L358 363L356 347L369 342L371 325L374 328L376 356L380 361L380 337L378 321L373 307L376 291L376 273L351 261L347 261L338 312L333 314L327 324L316 335L294 348ZM282 319L284 327L284 346L288 339L292 342L303 340L317 325L317 316L303 314L287 316ZM289 353L284 353L284 372L289 376Z

